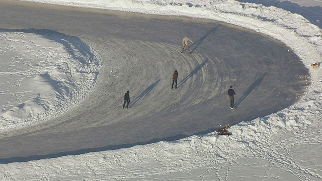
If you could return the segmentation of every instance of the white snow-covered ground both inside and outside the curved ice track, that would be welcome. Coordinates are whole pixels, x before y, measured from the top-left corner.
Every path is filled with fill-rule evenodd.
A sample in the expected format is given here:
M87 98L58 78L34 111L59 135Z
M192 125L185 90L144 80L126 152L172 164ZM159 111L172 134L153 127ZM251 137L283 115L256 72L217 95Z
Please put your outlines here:
M320 68L310 67L322 61L322 30L312 24L322 20L310 22L280 8L238 1L31 1L213 19L252 29L292 48L310 70L311 85L296 104L234 125L229 137L208 133L174 142L0 164L1 180L322 179L322 76ZM296 3L319 5L315 9L322 10L321 1ZM99 62L75 37L1 32L0 39L2 130L53 117L66 106L77 105L95 86ZM38 87L41 94L33 95Z

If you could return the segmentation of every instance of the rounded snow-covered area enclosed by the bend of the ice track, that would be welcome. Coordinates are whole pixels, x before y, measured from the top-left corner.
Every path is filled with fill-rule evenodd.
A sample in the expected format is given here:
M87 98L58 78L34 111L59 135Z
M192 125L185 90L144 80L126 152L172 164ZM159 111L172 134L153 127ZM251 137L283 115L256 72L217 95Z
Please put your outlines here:
M94 86L98 60L76 37L36 30L0 33L0 129L48 119L77 104Z

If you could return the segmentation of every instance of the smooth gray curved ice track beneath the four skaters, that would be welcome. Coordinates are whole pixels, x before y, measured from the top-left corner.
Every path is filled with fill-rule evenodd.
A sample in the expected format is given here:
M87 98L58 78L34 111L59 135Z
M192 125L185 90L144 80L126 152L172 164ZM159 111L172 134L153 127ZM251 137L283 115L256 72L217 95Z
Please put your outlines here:
M284 44L216 21L2 1L0 29L78 37L103 65L98 85L75 110L1 134L1 163L206 134L287 108L310 83ZM180 53L186 35L194 41L191 55ZM174 70L179 88L172 90ZM230 84L236 110L226 98ZM132 104L123 110L127 90Z

